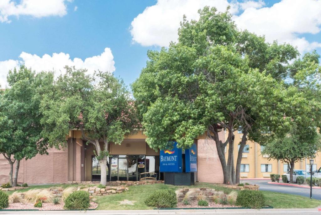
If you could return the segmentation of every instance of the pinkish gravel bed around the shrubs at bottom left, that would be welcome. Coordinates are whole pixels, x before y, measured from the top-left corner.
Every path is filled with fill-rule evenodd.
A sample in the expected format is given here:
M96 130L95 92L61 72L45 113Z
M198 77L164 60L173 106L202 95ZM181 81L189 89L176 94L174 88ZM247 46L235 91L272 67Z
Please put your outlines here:
M38 209L38 210L64 210L64 202L61 202L60 204L55 205L54 203L42 203L42 208L35 208L33 207L33 203L11 203L9 204L9 207L5 209L15 210L15 209ZM98 207L98 203L96 202L90 202L89 209L95 209Z

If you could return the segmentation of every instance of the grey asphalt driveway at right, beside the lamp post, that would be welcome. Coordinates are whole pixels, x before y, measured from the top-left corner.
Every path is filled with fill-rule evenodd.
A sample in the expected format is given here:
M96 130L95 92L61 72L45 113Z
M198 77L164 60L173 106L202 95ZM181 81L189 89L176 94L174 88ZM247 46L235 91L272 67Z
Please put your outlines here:
M262 191L282 192L310 197L310 189L301 187L292 187L286 185L268 184L271 180L241 180L241 183L260 185ZM321 200L321 189L312 189L312 198ZM321 213L320 213L321 214Z

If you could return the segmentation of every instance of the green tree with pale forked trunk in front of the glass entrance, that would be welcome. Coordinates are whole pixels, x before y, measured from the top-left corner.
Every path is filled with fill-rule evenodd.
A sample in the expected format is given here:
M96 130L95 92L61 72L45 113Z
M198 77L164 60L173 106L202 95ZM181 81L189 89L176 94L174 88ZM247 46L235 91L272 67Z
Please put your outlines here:
M65 143L69 130L81 130L86 144L95 147L100 183L105 185L108 145L121 144L124 136L139 125L130 93L122 80L108 72L97 72L92 77L86 75L87 70L65 68L65 75L54 82L41 102L45 116L42 135L57 147Z

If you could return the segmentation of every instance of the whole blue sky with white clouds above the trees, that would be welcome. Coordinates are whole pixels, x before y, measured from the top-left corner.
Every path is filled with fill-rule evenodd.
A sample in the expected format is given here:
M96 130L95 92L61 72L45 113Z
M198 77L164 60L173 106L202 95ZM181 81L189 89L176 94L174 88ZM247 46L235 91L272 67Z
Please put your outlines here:
M113 72L130 85L148 50L177 41L183 14L230 5L239 29L321 53L321 0L0 0L0 85L24 64L36 72L64 66Z

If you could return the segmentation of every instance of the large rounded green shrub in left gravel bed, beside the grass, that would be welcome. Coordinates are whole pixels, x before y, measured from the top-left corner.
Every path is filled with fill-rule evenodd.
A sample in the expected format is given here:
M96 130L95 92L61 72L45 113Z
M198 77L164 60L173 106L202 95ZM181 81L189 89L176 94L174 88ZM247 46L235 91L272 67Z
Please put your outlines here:
M89 208L89 193L86 191L75 191L65 199L65 209L84 210Z

